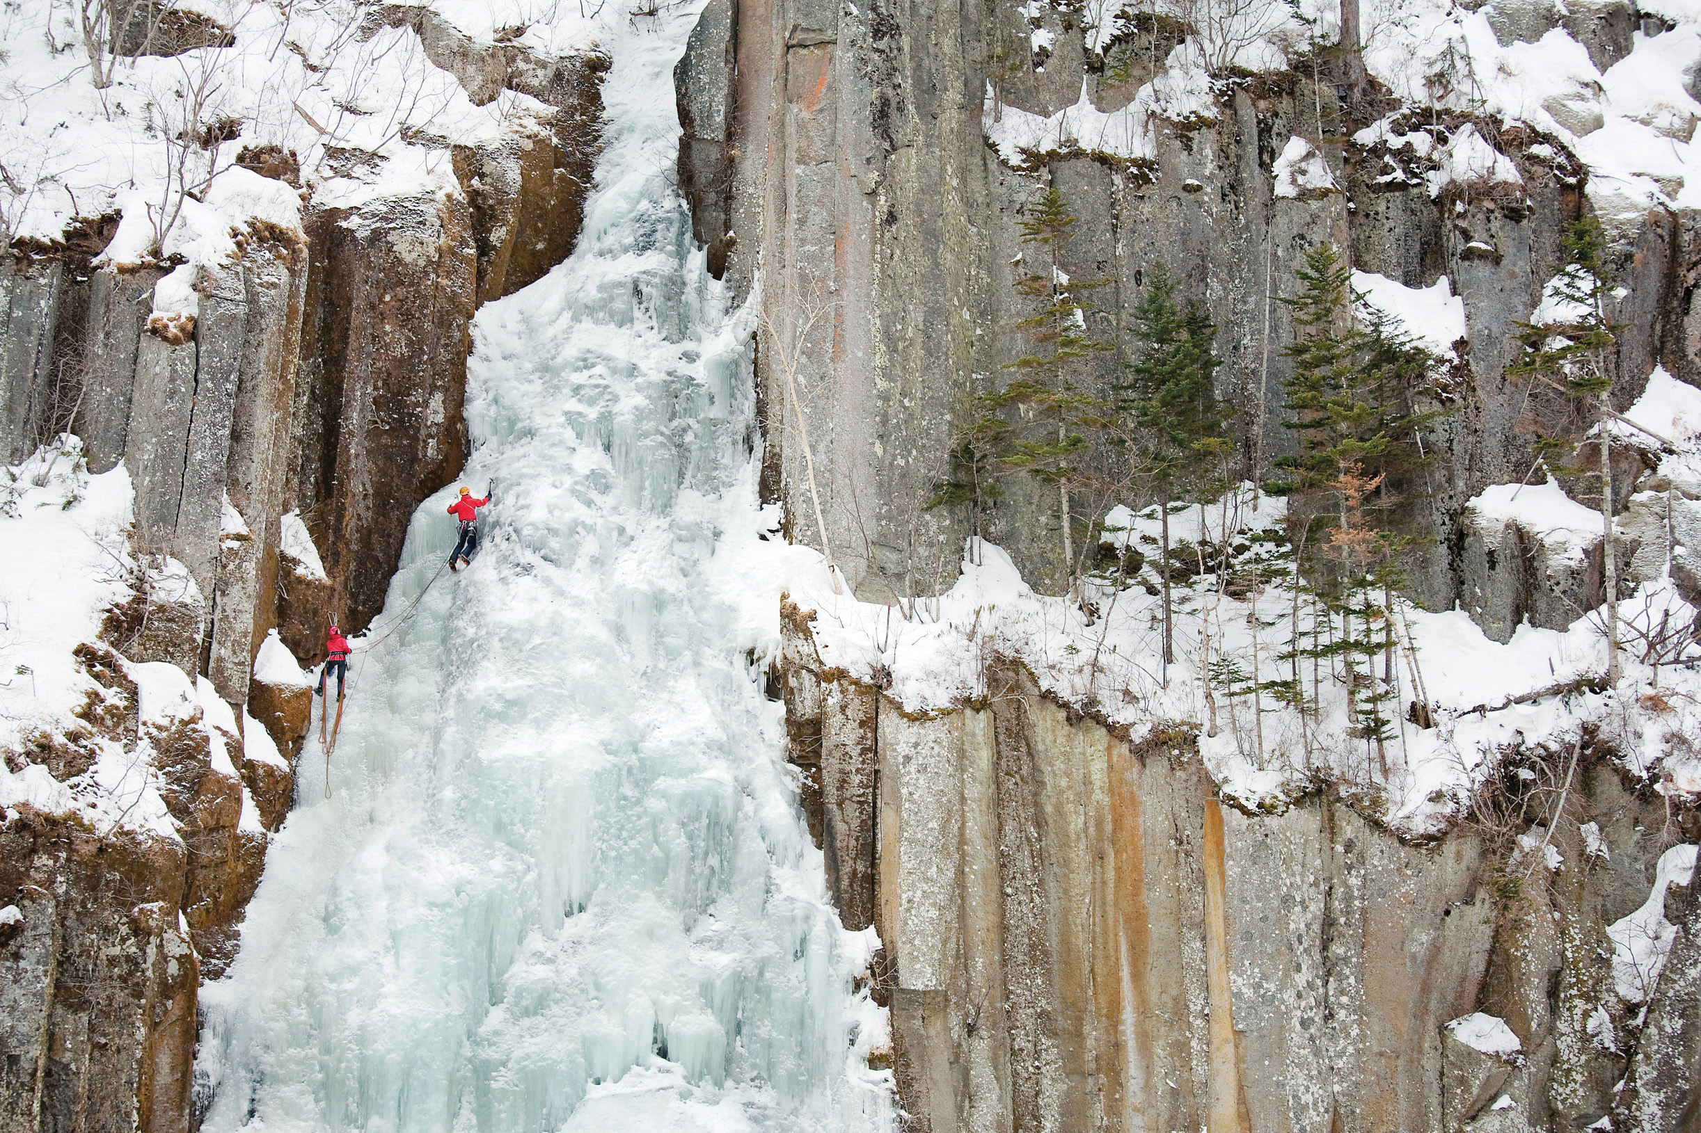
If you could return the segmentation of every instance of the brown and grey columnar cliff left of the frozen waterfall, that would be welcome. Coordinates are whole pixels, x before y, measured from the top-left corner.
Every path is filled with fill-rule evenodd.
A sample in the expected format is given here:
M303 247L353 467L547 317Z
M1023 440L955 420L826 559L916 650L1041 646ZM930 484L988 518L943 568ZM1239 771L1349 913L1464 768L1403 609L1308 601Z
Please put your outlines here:
M310 719L310 690L253 679L255 654L276 629L315 662L328 617L356 632L378 613L408 516L466 455L473 313L578 234L606 61L480 44L424 8L373 19L412 29L475 104L507 90L544 110L442 143L454 185L303 194L301 231L253 223L196 277L194 316L150 314L174 265L95 265L112 221L0 256L0 455L77 433L88 471L122 464L134 484L133 596L83 666L109 688L100 737L151 764L170 812L153 831L5 812L5 1130L194 1126L196 989L233 955ZM293 155L243 163L296 175ZM296 516L323 571L286 538ZM226 722L139 719L126 673L162 661L209 679ZM60 783L88 766L63 744L7 761Z

